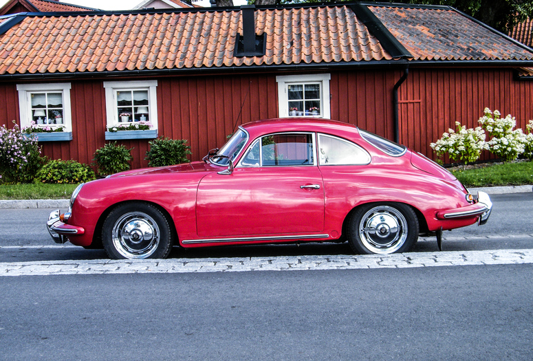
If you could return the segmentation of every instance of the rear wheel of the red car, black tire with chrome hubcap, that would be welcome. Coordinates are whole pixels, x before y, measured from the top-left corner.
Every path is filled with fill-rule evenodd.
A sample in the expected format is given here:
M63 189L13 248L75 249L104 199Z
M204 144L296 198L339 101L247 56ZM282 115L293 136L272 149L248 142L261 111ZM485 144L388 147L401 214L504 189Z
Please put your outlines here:
M349 219L348 243L360 254L409 252L418 239L413 208L399 203L373 203L358 208Z

